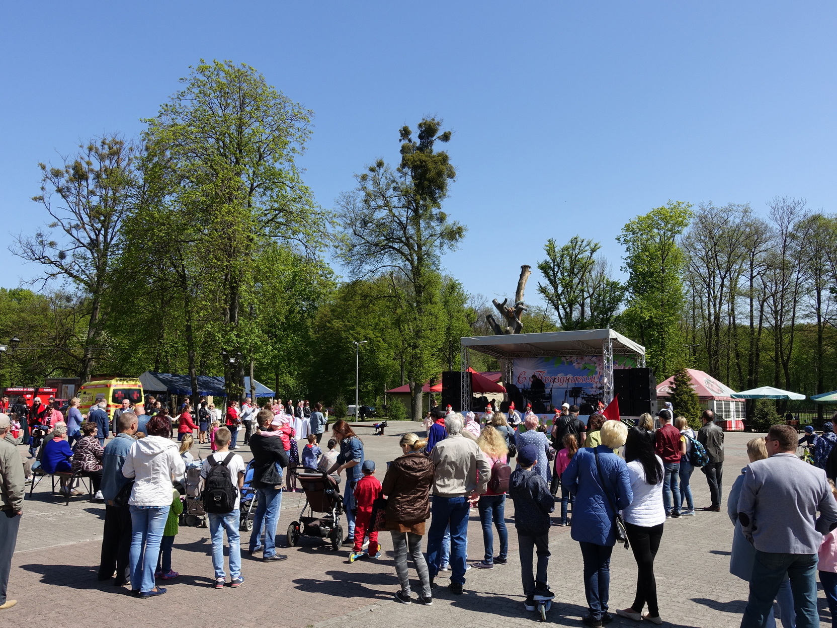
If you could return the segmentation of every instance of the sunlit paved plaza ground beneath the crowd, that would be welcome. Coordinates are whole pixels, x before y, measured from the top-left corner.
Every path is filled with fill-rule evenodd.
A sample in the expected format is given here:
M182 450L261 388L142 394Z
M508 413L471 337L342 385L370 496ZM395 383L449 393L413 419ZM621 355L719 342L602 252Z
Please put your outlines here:
M420 429L416 424L391 422L388 435L372 436L372 425L358 428L367 457L376 461L383 480L386 461L400 454L398 436ZM752 435L727 434L727 462L724 465L724 496L746 463L744 445ZM325 445L325 443L324 443ZM23 448L21 448L23 452ZM207 445L193 449L206 456ZM239 453L249 459L249 449ZM398 590L388 533L381 533L385 557L349 564L348 548L334 552L325 543L303 538L300 548L280 549L289 559L264 564L243 553L244 585L216 590L213 582L208 530L181 527L174 543L173 569L180 578L165 584L167 595L137 600L127 588L96 580L99 564L102 519L105 508L85 497L74 498L69 506L50 496L49 480L24 502L23 522L14 555L9 597L18 600L12 610L3 611L3 625L15 628L89 626L126 628L141 620L151 626L341 626L341 628L384 628L385 626L454 625L457 628L493 628L531 625L534 613L523 610L520 563L517 560L514 508L506 501L506 522L510 530L510 557L506 566L489 571L470 569L465 595L450 595L440 574L442 587L434 590L434 605L404 606L393 601ZM700 471L692 476L696 507L709 504L706 480ZM282 501L279 540L304 502L301 493L285 493ZM246 540L244 547L246 547ZM2 539L0 539L2 542ZM495 541L496 543L496 541ZM740 623L747 600L747 584L729 574L732 525L723 512L699 512L665 522L660 553L656 560L660 615L673 626L726 628ZM582 582L582 560L578 543L569 528L552 528L552 558L549 579L556 593L547 620L558 625L578 626L586 613ZM476 511L471 512L469 559L481 559L482 533ZM260 554L257 554L260 556ZM614 548L611 567L610 608L624 608L634 600L636 564L633 554ZM413 572L414 574L414 572ZM414 595L414 594L413 594ZM820 610L830 620L820 592ZM826 625L824 621L823 625ZM634 625L617 618L614 626Z

